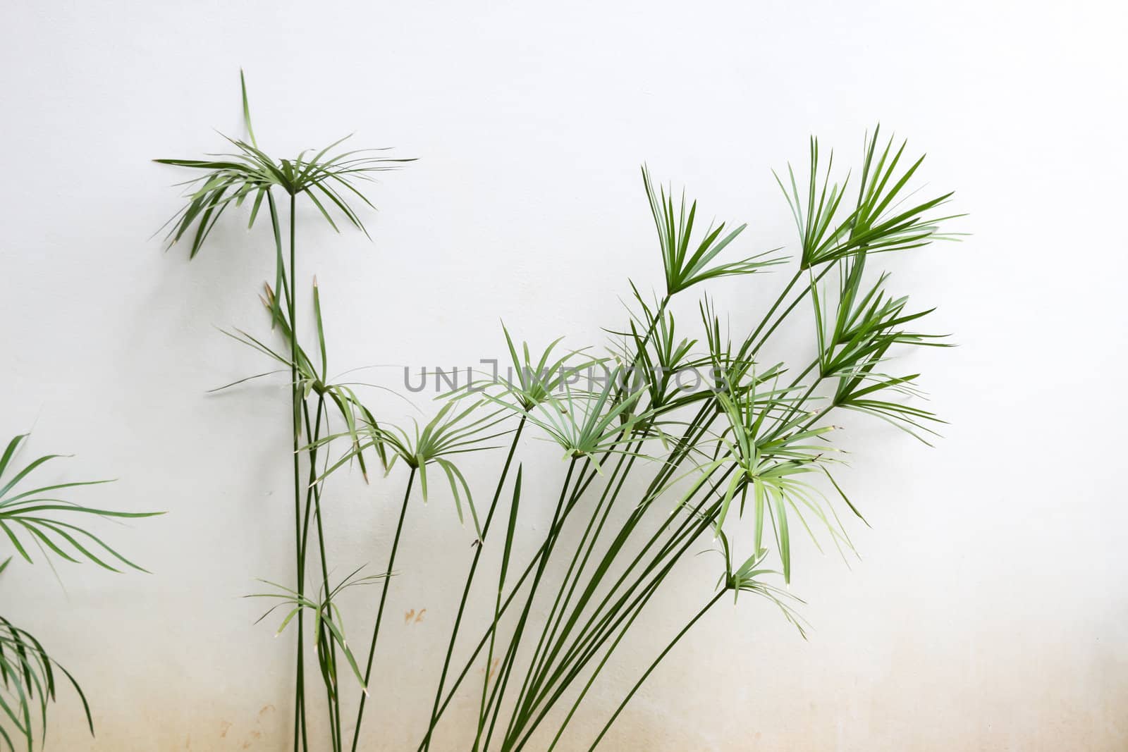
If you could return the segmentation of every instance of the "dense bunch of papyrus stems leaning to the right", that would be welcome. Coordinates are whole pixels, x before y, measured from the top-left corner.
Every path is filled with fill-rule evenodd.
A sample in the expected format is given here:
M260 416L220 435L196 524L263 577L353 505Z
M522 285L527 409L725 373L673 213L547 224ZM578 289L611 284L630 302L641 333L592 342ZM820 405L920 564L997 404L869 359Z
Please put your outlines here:
M861 517L834 477L840 448L831 440L840 432L831 419L856 410L919 439L937 421L911 404L917 374L887 372L905 347L942 344L909 328L928 311L914 311L905 298L890 295L887 275L870 280L865 274L867 259L879 253L952 237L941 233L953 219L941 211L951 194L915 197L911 184L922 159L907 160L904 143L882 140L875 131L865 140L856 198L847 202L851 186L834 180L829 161L820 165L812 139L805 179L796 179L791 167L779 179L799 231L794 272L759 322L735 343L722 335L721 317L707 298L699 306L702 337L679 338L671 299L710 280L764 272L788 259L769 251L742 262L717 260L743 225L729 233L724 224L710 227L698 236L696 202L688 207L684 200L675 202L672 192L655 188L643 170L666 291L650 303L632 284L636 312L610 350L617 365L602 389L582 396L557 389L530 404L521 384L494 384L494 400L512 409L519 426L532 424L561 444L567 468L545 540L515 582L506 573L514 569L509 552L520 528L510 520L494 619L448 687L456 626L420 750L431 749L439 719L483 649L485 683L464 690L481 697L477 727L466 746L555 749L647 602L703 541L712 540L723 560L716 586L703 589L700 609L606 714L591 749L724 593L734 600L742 592L765 596L802 631L796 599L772 583L773 577L791 581L793 530L797 525L816 545L821 538L847 551L852 546L836 505ZM750 285L748 294L757 289ZM767 357L773 335L804 308L813 319L810 362L795 366ZM511 352L513 370L522 372L528 354ZM616 378L624 368L627 378ZM680 371L704 371L714 381L708 389L686 391L671 378ZM624 492L628 477L640 474L649 478L645 490ZM527 474L521 480L528 488ZM518 513L520 488L514 487L511 515ZM578 542L562 548L561 532L570 524L581 532L566 538ZM769 557L778 569L767 564ZM530 614L541 611L547 618L531 625ZM499 631L506 614L511 622L503 639ZM503 655L494 671L499 645ZM566 711L550 716L545 727L562 701ZM570 749L575 744L570 741Z

